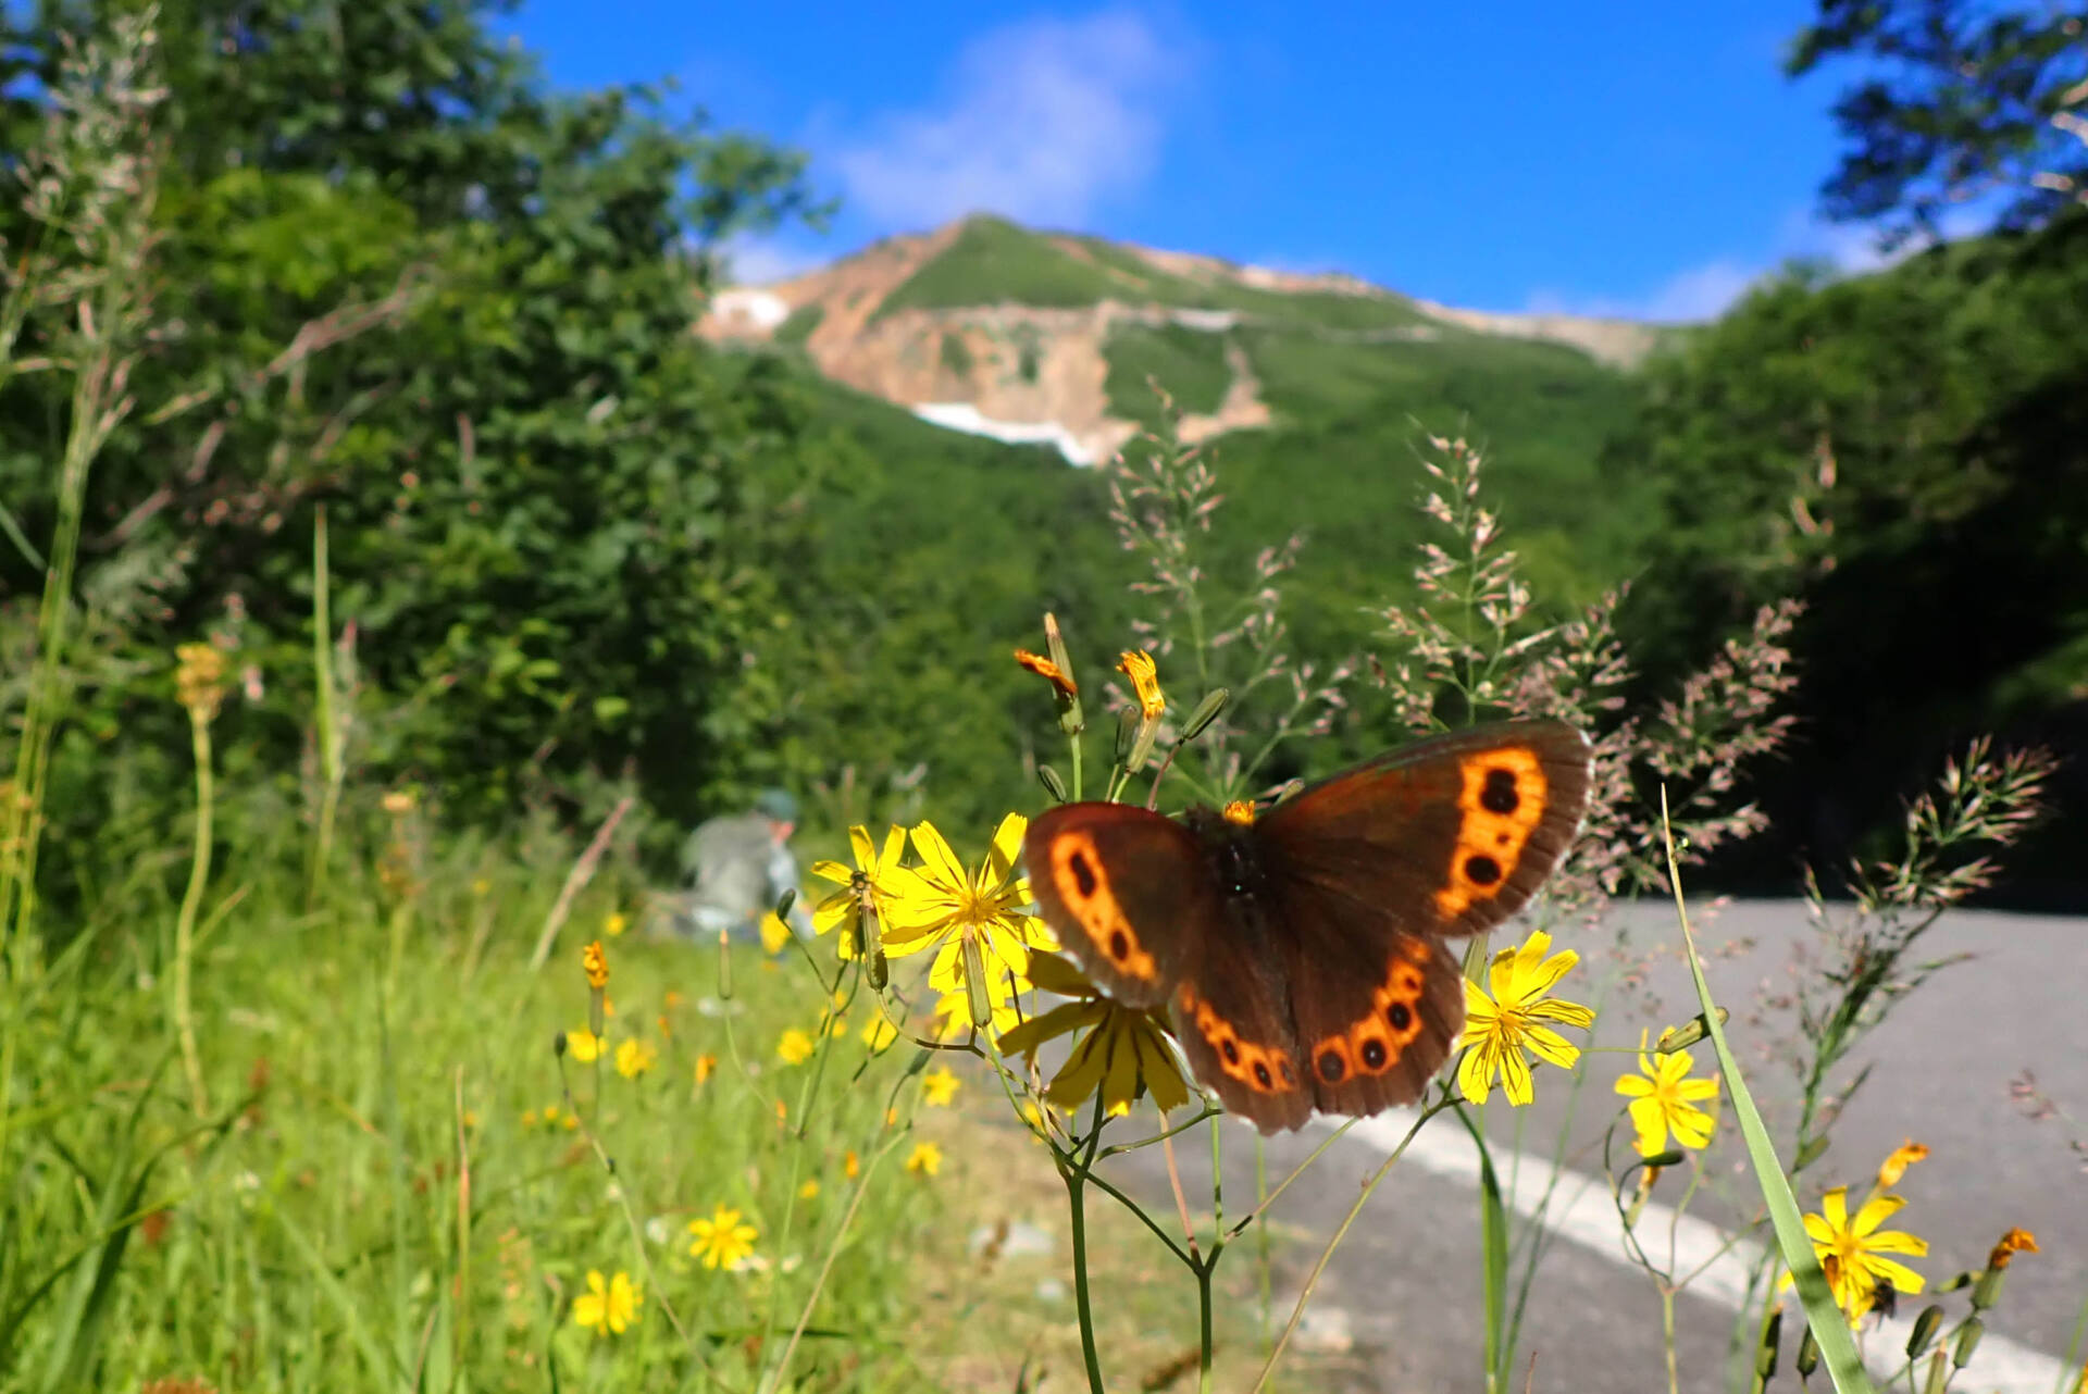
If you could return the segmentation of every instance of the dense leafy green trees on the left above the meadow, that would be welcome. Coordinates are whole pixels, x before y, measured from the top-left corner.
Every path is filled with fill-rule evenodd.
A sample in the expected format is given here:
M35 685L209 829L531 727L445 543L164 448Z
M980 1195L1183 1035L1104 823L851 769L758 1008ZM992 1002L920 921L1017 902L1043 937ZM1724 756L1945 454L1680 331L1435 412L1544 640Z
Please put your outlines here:
M689 334L708 248L812 211L802 163L647 90L549 94L489 29L507 8L163 6L155 326L92 474L81 570L81 595L129 576L152 605L79 735L163 741L165 651L238 628L267 695L228 735L294 770L324 503L378 774L470 814L572 810L631 772L677 818L804 774L775 739L777 576L821 447L802 396ZM10 163L38 81L106 13L10 13L31 79ZM13 209L4 232L27 232ZM50 328L31 319L25 346ZM0 497L35 538L65 384L13 388ZM6 547L8 609L40 584ZM54 812L92 826L94 783L69 787L86 803Z

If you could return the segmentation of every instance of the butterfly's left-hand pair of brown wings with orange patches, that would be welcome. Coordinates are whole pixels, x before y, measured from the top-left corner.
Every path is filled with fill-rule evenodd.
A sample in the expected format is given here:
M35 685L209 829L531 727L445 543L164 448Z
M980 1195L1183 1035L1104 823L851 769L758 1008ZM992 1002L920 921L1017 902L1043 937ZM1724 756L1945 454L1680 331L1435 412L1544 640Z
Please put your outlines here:
M1123 803L1065 803L1029 824L1029 889L1088 977L1125 1006L1161 1006L1196 1079L1263 1131L1311 1114L1272 933L1242 922L1209 845Z

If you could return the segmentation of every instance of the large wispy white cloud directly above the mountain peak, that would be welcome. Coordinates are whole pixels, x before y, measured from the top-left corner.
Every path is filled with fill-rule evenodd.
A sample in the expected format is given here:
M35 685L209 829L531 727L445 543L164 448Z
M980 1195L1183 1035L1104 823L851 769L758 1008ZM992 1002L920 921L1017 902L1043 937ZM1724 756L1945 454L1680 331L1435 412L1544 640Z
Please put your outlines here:
M944 100L837 142L846 205L887 227L965 213L1079 225L1153 173L1180 67L1128 13L992 29L958 54Z

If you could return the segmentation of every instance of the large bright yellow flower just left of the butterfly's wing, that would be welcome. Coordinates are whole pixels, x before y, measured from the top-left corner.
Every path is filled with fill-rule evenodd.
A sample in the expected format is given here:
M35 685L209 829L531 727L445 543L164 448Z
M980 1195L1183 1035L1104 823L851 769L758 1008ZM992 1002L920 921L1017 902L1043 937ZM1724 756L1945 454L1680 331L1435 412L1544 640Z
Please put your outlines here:
M887 910L885 952L896 958L933 947L929 985L965 991L967 945L977 952L990 985L1002 972L1021 975L1031 947L1054 947L1044 920L1017 910L1029 904L1029 881L1015 870L1027 826L1021 814L1002 818L986 862L967 872L935 824L919 824L912 843L923 866L896 876L902 895Z

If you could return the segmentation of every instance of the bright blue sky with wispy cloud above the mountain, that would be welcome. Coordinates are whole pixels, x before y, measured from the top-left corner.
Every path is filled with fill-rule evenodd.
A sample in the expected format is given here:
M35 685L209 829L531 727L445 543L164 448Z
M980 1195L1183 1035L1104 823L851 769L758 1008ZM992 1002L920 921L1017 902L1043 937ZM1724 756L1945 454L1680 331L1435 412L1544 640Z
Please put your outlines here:
M553 86L679 79L812 157L825 234L766 280L992 211L1474 309L1712 315L1823 225L1840 75L1785 81L1806 0L1021 6L526 0Z

